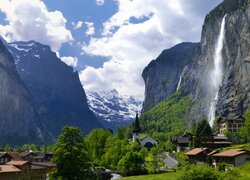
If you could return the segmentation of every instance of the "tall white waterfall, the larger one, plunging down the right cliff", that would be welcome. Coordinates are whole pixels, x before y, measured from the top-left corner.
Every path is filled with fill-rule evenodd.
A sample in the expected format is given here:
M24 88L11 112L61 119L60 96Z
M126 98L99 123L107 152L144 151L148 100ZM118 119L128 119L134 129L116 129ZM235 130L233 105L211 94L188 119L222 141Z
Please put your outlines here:
M211 79L211 90L214 96L210 102L210 109L208 113L209 124L212 126L215 119L215 111L216 105L219 97L219 88L222 83L223 77L223 57L222 57L222 49L223 49L223 41L225 37L225 18L223 17L220 27L220 34L218 37L218 41L215 48L214 53L214 69L211 71L210 79Z

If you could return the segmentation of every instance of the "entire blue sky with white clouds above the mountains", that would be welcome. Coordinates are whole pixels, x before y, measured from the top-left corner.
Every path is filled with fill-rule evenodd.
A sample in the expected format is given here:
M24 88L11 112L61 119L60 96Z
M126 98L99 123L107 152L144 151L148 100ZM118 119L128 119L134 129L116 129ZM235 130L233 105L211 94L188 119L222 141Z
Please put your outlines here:
M0 0L0 35L50 45L86 90L143 97L147 64L180 42L198 42L222 0Z

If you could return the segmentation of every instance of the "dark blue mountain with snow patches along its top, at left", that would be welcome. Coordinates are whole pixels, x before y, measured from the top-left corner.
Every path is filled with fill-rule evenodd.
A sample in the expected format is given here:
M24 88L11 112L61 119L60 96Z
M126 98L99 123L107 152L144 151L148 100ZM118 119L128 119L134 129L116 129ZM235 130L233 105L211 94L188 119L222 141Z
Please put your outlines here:
M13 42L8 49L53 138L66 125L78 126L84 133L102 127L88 107L78 72L63 63L49 46L35 41Z

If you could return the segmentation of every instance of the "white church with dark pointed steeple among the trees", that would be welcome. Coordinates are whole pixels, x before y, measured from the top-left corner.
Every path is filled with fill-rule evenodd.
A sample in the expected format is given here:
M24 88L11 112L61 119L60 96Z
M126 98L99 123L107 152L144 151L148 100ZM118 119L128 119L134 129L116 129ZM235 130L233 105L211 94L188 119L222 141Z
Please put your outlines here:
M144 138L141 138L141 127L139 122L138 114L136 114L135 122L134 122L134 128L133 128L133 142L140 143L141 147L146 147L148 150L150 150L152 147L157 146L157 141L154 140L150 136L145 136Z

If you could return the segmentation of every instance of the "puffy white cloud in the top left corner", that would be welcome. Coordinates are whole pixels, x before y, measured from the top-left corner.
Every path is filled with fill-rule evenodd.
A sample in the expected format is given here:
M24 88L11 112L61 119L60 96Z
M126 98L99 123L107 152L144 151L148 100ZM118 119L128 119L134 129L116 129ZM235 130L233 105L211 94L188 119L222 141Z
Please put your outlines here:
M0 34L7 41L35 40L57 51L63 43L73 40L63 14L48 11L41 0L0 0L0 4L8 23L0 25Z

